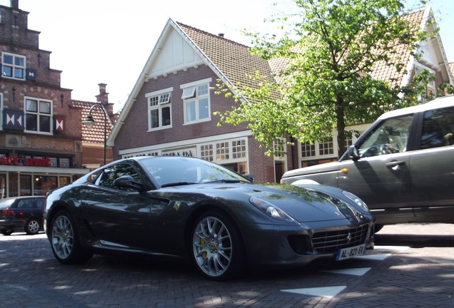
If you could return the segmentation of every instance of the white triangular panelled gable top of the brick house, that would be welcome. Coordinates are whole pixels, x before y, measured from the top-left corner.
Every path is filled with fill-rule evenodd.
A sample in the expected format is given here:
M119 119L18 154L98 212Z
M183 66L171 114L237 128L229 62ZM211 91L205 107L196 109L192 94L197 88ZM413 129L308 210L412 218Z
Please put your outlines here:
M163 38L161 48L158 48L158 56L151 64L148 78L166 75L202 63L196 51L172 28Z

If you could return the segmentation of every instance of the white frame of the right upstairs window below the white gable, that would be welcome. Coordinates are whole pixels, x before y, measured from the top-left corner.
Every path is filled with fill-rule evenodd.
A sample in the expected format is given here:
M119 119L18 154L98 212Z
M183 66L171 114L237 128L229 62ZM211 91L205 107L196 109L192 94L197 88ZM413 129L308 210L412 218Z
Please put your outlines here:
M183 100L183 125L194 124L211 120L211 98L210 98L210 83L212 78L205 78L191 83L184 83L180 86L183 90L181 99ZM201 88L206 87L206 93L200 93ZM201 118L201 103L206 100L208 108L208 116ZM188 106L193 103L193 120L188 120Z

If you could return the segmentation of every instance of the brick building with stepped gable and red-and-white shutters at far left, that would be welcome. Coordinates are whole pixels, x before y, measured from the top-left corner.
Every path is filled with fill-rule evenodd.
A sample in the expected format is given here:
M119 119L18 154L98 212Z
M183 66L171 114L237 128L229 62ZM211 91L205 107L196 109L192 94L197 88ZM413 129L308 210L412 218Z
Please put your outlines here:
M61 88L61 71L50 68L51 51L39 48L39 31L28 29L28 14L19 0L0 6L0 198L44 195L100 163L85 150L96 148L99 133L82 125L95 103L73 101L72 90ZM105 85L99 98L111 112ZM108 133L111 123L109 118ZM96 156L102 157L102 145Z

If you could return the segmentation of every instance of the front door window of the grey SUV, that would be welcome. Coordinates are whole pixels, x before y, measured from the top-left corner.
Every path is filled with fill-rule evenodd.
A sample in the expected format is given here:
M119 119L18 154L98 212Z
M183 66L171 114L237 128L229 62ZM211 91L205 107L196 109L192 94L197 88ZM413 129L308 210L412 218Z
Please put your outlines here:
M384 120L360 144L361 157L400 153L407 150L413 114Z

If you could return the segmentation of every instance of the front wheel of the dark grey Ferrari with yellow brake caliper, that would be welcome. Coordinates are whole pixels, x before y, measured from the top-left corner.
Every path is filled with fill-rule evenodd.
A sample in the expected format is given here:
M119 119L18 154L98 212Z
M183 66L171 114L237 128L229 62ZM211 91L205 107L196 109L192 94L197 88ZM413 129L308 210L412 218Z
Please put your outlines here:
M226 281L243 273L243 240L231 217L207 211L198 217L191 235L191 258L203 276Z

